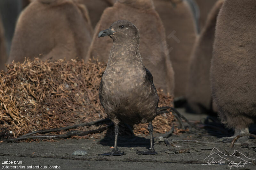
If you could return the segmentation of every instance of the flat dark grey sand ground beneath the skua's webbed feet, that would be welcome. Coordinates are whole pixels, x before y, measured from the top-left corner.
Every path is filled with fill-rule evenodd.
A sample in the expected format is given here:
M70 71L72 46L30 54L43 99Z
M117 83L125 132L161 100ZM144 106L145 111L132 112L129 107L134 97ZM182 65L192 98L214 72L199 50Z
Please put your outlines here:
M189 116L189 115L187 115ZM192 115L190 120L198 120L206 115ZM156 134L159 136L159 134ZM157 137L156 137L157 139ZM0 165L4 169L7 166L41 166L41 169L49 169L49 166L60 166L52 169L230 169L241 161L241 167L231 169L256 169L256 141L250 139L246 143L236 143L230 148L230 143L218 142L218 138L207 133L184 133L181 136L171 136L166 139L173 146L167 146L166 142L156 142L156 155L138 155L136 150L146 150L149 145L148 137L119 137L118 148L126 155L115 157L102 157L98 154L110 152L113 145L113 137L95 139L65 139L56 142L32 142L32 143L0 143ZM213 150L213 148L216 148ZM184 150L181 150L184 149ZM220 151L218 151L218 150ZM232 155L234 149L238 152ZM85 156L74 156L76 150L85 150ZM211 152L216 152L208 157ZM187 153L179 153L186 151ZM212 153L213 153L212 152ZM225 155L228 156L225 156ZM174 154L176 153L176 154ZM208 158L207 158L208 157ZM228 160L226 160L228 159ZM208 164L212 160L216 163ZM6 162L7 161L7 164ZM8 162L12 161L12 163ZM19 163L14 161L21 161ZM250 162L243 166L243 163ZM20 166L20 167L19 167ZM9 167L6 169L10 169ZM32 167L39 169L38 167ZM31 169L32 169L31 168Z

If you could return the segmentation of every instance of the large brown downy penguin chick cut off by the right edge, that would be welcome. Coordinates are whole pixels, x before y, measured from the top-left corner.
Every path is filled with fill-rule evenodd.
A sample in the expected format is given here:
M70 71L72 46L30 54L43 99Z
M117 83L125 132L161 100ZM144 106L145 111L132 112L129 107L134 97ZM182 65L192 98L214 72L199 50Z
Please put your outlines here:
M235 135L256 120L256 1L225 0L217 18L211 65L213 101Z

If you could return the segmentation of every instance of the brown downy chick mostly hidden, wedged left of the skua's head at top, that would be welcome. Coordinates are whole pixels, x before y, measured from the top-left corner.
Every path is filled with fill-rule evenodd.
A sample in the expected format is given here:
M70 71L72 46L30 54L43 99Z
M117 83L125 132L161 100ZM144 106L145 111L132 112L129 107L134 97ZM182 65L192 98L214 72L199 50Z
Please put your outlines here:
M113 6L113 0L77 0L79 3L84 4L89 12L89 16L92 22L92 27L94 28L98 21L100 20L100 16L102 12L110 6Z

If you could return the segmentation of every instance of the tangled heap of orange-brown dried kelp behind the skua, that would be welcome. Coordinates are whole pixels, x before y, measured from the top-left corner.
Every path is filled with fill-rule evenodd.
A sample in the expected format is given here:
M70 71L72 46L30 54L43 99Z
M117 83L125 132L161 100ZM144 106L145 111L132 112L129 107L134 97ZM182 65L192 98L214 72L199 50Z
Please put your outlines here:
M12 63L7 72L0 72L0 138L107 118L98 95L105 68L106 64L95 60L87 63L76 60L43 62L36 58L34 61ZM158 93L159 107L172 105L172 96L161 91ZM158 115L153 121L154 131L169 131L173 120L171 112ZM106 124L75 130L93 130ZM64 133L66 131L51 134ZM147 134L147 125L135 125L134 133ZM104 132L83 138L102 135Z

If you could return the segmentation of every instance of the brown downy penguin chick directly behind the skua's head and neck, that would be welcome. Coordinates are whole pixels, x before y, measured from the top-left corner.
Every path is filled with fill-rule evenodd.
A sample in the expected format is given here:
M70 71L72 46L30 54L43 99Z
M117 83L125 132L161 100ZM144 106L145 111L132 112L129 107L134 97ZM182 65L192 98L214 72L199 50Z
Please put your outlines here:
M152 73L156 88L173 95L174 73L165 45L164 26L152 0L119 0L113 7L107 8L95 28L85 61L92 57L98 58L100 62L108 61L113 42L107 38L99 40L97 33L120 19L129 20L140 29L143 63Z

